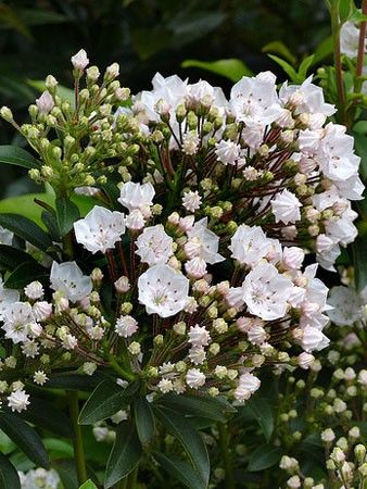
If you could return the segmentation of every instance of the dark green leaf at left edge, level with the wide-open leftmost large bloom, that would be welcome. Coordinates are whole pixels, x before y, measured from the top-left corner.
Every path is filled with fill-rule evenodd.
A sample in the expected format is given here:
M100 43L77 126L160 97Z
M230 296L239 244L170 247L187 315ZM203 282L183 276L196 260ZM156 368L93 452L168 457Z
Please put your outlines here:
M20 214L0 214L0 226L30 242L36 248L47 251L52 246L51 238L37 224Z

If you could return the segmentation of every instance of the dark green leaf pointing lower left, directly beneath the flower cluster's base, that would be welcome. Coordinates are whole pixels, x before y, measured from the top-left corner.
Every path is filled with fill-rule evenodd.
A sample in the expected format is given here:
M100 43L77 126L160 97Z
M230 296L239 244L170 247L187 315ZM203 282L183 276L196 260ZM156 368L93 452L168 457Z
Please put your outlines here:
M80 425L91 425L106 419L117 411L126 408L139 389L139 384L131 384L126 389L112 380L103 380L83 406L79 415Z

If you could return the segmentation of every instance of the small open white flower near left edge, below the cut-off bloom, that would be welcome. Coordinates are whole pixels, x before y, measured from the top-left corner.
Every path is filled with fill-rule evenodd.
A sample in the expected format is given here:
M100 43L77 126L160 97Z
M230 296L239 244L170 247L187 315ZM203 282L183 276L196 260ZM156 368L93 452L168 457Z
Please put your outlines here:
M3 326L5 338L13 343L24 342L28 338L28 325L34 323L31 306L28 302L14 302L3 313Z

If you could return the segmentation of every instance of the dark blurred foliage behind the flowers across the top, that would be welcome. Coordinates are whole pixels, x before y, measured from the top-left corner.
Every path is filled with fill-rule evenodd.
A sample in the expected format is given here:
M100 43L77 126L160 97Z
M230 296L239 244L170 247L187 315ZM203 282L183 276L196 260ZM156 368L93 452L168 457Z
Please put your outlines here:
M320 0L0 1L0 101L24 122L37 97L29 80L53 74L69 86L69 58L80 48L101 68L119 62L122 83L132 92L149 88L157 71L205 77L228 91L228 79L182 62L239 59L243 73L269 68L283 79L264 51L298 65L328 36ZM1 122L0 142L22 145L16 138ZM35 190L24 172L1 166L0 198Z

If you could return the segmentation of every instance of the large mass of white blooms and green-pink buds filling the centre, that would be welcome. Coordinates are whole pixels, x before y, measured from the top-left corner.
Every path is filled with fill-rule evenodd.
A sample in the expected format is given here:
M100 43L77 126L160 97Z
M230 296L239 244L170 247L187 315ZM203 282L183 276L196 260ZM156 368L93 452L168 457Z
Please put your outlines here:
M240 402L260 367L308 368L328 344L329 306L304 258L333 268L363 191L353 139L326 124L334 108L321 89L309 78L278 91L266 72L226 100L206 82L156 75L116 109L127 97L118 67L98 86L85 52L72 61L74 106L48 77L18 129L42 160L33 177L63 198L99 192L50 250L48 280L0 287L1 328L22 352L1 364L9 406L29 402L22 381L5 380L16 365L38 385L53 371L112 366L148 391Z

